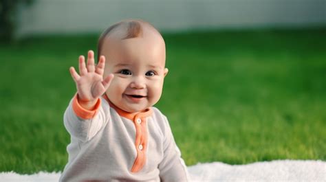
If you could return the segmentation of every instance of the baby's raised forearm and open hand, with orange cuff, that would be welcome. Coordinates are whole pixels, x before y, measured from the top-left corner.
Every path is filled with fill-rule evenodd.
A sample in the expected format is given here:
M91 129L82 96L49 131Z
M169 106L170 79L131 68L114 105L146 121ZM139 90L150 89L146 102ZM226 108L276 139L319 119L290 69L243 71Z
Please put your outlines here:
M105 57L101 56L94 65L94 52L88 52L87 66L84 56L79 57L79 74L74 67L70 73L76 83L77 93L69 103L64 115L64 124L73 137L87 141L93 137L106 122L106 112L101 107L100 95L105 93L113 74L103 80Z

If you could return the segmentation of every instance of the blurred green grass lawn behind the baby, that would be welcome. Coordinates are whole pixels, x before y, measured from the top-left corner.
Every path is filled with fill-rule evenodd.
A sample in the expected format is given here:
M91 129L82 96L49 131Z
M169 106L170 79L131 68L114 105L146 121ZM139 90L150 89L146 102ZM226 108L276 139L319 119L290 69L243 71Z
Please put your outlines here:
M157 107L188 166L222 161L326 160L326 31L164 34L167 67ZM98 35L0 45L0 171L60 171L63 112L76 89L69 66Z

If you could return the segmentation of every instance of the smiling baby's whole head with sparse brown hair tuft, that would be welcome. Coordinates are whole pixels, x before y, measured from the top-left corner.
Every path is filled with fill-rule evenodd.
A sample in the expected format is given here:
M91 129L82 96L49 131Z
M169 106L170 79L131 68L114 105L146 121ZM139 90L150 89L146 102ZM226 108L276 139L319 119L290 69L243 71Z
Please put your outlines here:
M109 100L129 113L153 106L162 95L165 43L153 25L125 20L109 27L98 41L98 60L105 56L103 77L113 73Z

